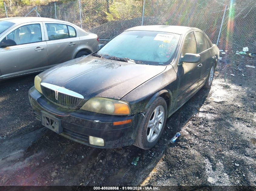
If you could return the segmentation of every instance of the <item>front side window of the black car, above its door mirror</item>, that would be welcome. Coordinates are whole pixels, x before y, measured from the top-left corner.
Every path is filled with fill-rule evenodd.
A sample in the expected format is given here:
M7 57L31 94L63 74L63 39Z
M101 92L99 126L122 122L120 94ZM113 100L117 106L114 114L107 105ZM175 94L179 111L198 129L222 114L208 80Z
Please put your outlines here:
M193 32L187 34L183 46L182 46L182 55L184 56L186 53L197 53L196 41Z

